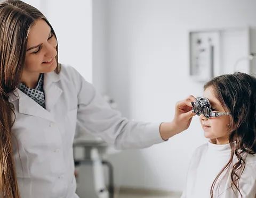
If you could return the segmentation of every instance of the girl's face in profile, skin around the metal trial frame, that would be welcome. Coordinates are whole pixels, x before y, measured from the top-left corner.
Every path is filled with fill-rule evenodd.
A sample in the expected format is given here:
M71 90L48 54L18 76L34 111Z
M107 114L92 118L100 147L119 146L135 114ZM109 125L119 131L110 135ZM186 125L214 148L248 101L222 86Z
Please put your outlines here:
M212 87L208 87L204 91L204 97L208 98L213 112L227 112L220 104L220 101L214 96ZM224 115L220 117L206 118L204 115L199 116L204 136L211 139L217 144L227 144L228 126L230 124L230 116Z

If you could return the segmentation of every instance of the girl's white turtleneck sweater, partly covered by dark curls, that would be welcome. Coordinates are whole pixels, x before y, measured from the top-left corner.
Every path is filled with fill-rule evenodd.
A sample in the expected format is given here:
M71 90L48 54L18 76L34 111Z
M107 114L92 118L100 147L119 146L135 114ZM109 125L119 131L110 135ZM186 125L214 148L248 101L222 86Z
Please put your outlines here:
M187 182L182 198L207 198L210 196L211 185L220 170L230 158L230 145L217 145L211 142L198 147L190 161ZM234 162L237 162L235 157ZM241 197L234 194L230 182L230 170L225 170L214 187L214 198ZM256 154L248 154L245 169L239 182L243 198L256 197Z

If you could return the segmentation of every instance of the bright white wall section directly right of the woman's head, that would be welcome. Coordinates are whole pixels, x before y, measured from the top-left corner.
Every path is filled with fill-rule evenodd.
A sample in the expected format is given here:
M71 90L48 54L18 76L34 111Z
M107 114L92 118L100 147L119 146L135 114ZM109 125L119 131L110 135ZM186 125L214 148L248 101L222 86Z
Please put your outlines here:
M40 10L57 35L59 62L92 82L92 0L41 0Z

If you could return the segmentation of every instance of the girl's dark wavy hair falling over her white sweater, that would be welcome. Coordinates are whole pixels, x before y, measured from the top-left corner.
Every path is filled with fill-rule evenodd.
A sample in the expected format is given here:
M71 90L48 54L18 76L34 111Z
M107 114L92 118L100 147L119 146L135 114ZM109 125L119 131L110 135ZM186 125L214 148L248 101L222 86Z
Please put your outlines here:
M239 179L245 168L248 154L256 153L256 78L241 72L220 75L204 85L204 90L212 87L214 96L224 109L231 113L229 144L231 156L225 167L214 179L211 186L211 198L214 187L223 171L231 168L231 188L239 193ZM235 163L233 160L235 159Z

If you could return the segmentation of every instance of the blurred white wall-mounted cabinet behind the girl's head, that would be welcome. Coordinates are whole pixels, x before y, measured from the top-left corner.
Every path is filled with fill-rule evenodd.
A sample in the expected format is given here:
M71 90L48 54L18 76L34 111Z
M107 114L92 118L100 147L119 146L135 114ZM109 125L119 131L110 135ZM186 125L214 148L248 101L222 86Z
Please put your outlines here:
M256 73L255 53L255 28L189 32L190 76L197 81L236 71Z

